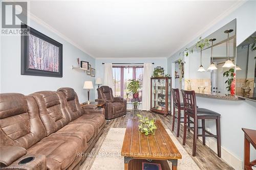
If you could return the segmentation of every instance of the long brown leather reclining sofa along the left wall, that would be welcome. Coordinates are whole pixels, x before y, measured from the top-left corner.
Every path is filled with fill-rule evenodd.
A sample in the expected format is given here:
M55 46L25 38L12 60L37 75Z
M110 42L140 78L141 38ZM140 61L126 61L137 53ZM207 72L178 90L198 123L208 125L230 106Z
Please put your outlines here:
M0 94L2 169L79 169L104 129L104 109L72 88ZM26 163L27 162L27 163Z

